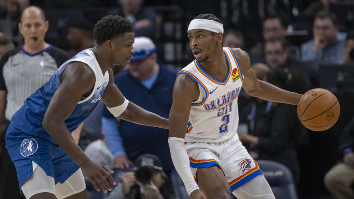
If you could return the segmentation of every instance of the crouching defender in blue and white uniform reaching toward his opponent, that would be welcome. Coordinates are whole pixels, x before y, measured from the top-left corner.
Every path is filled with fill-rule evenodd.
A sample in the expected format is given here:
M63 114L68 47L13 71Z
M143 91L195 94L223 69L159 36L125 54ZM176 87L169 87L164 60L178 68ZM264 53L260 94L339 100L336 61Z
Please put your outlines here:
M70 135L99 100L121 119L168 128L168 119L126 100L113 82L112 67L134 53L131 23L106 16L93 32L95 46L63 63L11 119L6 148L27 199L87 199L82 172L97 191L111 191L113 171L89 160Z

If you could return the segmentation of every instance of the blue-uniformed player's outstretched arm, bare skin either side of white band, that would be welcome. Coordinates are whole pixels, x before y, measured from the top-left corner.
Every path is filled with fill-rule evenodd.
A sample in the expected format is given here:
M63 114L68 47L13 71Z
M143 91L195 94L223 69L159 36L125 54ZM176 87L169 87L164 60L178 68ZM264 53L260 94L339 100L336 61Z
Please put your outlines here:
M118 107L123 104L125 98L120 92L117 85L114 83L112 70L109 71L109 75L110 80L103 93L102 100L109 108ZM129 102L125 111L120 114L118 118L141 125L160 127L164 129L168 129L169 124L168 119L161 117L157 114L148 112L145 109L137 106L133 102Z

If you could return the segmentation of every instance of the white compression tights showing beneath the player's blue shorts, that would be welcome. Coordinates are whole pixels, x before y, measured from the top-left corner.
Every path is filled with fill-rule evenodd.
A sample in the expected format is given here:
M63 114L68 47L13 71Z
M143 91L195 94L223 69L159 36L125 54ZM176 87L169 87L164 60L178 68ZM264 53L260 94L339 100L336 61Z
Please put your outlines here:
M62 184L60 182L55 184L54 178L48 176L41 167L34 162L32 162L32 165L32 176L21 186L21 190L26 199L29 199L35 194L44 192L52 193L58 199L64 199L86 189L85 179L81 169L73 173Z

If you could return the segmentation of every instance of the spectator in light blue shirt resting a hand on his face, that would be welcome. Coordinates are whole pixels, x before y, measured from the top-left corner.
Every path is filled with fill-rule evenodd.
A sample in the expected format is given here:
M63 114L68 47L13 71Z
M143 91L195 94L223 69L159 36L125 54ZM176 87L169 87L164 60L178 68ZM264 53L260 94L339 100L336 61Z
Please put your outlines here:
M301 45L303 61L342 63L346 33L338 31L337 17L326 11L316 14L313 39Z

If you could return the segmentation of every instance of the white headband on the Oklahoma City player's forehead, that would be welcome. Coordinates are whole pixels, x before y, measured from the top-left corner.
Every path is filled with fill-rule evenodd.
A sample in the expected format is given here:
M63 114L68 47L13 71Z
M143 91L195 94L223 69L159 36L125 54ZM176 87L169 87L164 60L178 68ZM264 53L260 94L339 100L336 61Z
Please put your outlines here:
M224 28L222 24L214 20L208 19L193 19L189 24L187 31L191 29L206 29L216 33L224 33Z

